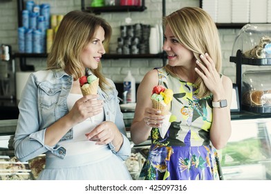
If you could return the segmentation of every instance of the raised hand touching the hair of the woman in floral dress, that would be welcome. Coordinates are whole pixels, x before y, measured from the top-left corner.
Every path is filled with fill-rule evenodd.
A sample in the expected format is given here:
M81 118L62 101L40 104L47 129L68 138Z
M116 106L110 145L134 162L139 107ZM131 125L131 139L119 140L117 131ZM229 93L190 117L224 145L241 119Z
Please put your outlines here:
M196 60L196 64L198 64L198 67L200 69L195 68L196 73L198 73L198 76L200 76L203 79L203 82L205 83L206 87L214 93L215 91L223 90L223 84L221 80L221 76L216 71L216 66L214 64L214 61L210 56L205 53L205 55L200 55L201 60L205 63L202 64L198 60Z

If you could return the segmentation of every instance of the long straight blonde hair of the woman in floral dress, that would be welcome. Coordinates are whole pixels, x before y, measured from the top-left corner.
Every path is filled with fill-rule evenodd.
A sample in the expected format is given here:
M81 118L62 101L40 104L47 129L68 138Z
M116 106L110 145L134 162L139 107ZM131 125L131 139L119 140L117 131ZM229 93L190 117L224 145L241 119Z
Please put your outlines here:
M221 73L221 44L219 40L216 24L205 10L196 7L185 7L172 12L163 18L163 26L169 25L172 33L187 49L194 53L196 60L200 60L200 55L208 53L214 61L216 71ZM165 67L172 76L174 67ZM202 78L198 76L195 85L198 87L199 98L209 96L211 92L205 86Z

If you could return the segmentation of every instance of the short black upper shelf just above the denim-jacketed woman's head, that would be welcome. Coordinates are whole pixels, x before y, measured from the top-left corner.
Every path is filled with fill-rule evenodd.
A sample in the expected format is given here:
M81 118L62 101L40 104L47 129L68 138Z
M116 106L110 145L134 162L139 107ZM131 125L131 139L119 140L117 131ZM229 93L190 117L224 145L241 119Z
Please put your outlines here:
M86 7L84 11L100 14L101 12L142 12L146 10L145 6L104 6L104 7Z

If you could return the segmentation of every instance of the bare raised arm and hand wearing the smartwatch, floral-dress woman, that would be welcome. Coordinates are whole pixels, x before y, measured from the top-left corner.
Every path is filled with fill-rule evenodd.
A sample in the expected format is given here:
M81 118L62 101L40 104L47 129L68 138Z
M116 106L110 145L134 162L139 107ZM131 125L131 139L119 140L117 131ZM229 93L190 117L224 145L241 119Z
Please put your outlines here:
M213 94L213 102L227 100L227 107L213 107L213 121L210 129L210 139L216 149L224 148L232 133L230 105L232 103L232 81L221 76L216 71L215 64L210 56L200 55L205 65L196 61L196 73L203 79L206 87Z

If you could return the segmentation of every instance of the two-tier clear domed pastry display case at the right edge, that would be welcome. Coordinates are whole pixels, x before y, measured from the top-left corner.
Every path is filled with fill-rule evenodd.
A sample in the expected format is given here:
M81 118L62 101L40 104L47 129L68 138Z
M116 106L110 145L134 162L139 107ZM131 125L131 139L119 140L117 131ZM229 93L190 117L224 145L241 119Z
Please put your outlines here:
M271 24L243 26L234 41L230 62L236 64L241 111L270 113L271 71L263 67L271 65ZM243 72L243 66L258 68Z

